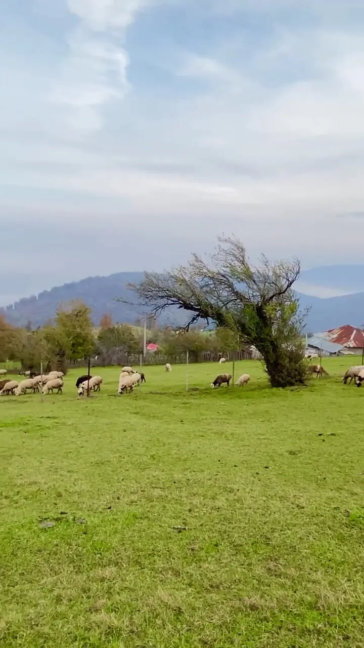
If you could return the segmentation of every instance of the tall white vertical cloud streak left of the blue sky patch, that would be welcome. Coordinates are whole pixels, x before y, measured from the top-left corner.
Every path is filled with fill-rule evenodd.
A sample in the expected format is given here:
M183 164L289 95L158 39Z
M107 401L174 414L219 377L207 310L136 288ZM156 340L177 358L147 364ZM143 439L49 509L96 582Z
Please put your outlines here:
M67 121L76 130L100 130L102 109L122 100L128 53L120 47L126 28L149 0L68 0L80 24L68 36L69 56L61 65L50 99L68 108Z

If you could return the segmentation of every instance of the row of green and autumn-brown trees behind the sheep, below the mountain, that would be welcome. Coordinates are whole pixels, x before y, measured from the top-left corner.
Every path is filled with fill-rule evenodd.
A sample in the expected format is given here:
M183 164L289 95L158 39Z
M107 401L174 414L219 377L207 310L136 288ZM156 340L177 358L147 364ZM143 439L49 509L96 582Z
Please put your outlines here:
M154 319L148 323L146 343L153 342L158 353L168 358L189 353L191 362L201 361L204 353L228 354L245 350L244 341L233 331L217 327L214 330L173 330L158 327ZM142 327L114 323L104 314L98 327L91 319L91 308L82 301L58 308L53 321L32 330L30 323L24 329L7 323L0 316L0 362L20 362L25 370L57 369L65 372L73 363L88 357L101 356L102 364L117 364L113 358L137 355L143 352Z

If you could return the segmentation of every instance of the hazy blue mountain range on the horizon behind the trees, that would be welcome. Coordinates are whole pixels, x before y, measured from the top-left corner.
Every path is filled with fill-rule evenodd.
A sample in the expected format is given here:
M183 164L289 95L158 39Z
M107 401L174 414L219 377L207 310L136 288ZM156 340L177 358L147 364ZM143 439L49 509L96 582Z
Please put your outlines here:
M352 272L352 268L364 270L364 266L333 266L335 269L338 267L351 268L350 272ZM326 277L327 285L329 275L326 273L326 269L316 268L313 270L306 271L313 272L313 275L309 275L313 277L313 281L323 281ZM319 271L322 271L321 275ZM358 272L357 270L353 273L356 279L359 279ZM306 281L307 274L302 273L302 275ZM339 271L335 270L334 275L338 279ZM100 321L104 313L111 313L115 322L132 324L142 315L142 312L135 306L130 305L130 302L135 299L135 295L128 290L127 285L128 283L139 283L143 276L142 272L120 272L109 275L109 277L87 277L82 281L57 286L52 290L45 290L37 297L20 299L14 305L3 309L0 308L0 314L5 315L9 322L18 326L25 326L30 321L32 327L35 328L43 325L47 319L53 318L56 309L61 303L72 299L83 299L92 309L95 323ZM361 327L364 324L364 292L341 297L330 297L330 299L309 297L300 293L297 293L297 295L302 309L311 307L306 319L306 330L308 332L334 329L344 324L352 324L356 327ZM116 301L118 297L124 301ZM185 313L182 310L171 309L163 315L161 321L171 325L181 323L185 321Z

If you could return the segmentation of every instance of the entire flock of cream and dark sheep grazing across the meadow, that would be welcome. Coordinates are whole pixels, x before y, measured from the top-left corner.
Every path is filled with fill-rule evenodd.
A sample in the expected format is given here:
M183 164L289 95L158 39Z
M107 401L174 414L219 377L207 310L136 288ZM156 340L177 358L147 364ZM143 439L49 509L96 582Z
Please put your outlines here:
M224 362L226 362L226 359L220 358L219 362L220 364L223 364ZM172 367L169 363L166 364L166 371L172 371ZM315 374L316 377L328 376L327 371L325 371L325 369L321 365L311 365L310 372ZM6 373L6 369L0 369L0 376L5 376ZM40 375L35 376L34 378L27 378L27 376L30 375L30 372L27 371L23 373L23 375L25 376L25 380L21 380L21 382L18 382L17 380L9 380L8 378L3 378L3 380L0 380L0 396L10 394L20 396L21 394L26 394L27 391L30 391L32 393L40 393L40 389L42 394L54 393L54 390L56 390L56 393L62 394L62 371L51 371L46 376ZM233 376L230 373L221 373L216 376L215 380L211 383L211 387L213 389L220 388L223 384L226 384L227 387L229 387L232 378ZM244 373L242 376L240 376L240 378L238 378L238 380L236 380L235 386L242 387L244 385L247 385L249 380L249 374ZM341 378L341 380L345 385L348 382L350 384L354 380L355 384L358 387L361 387L361 384L364 382L364 365L355 365L353 367L349 367L349 369L345 371L345 374L343 375L343 378ZM121 395L123 393L131 393L133 389L141 385L142 382L146 382L144 373L134 371L132 367L122 367L122 371L119 376L118 394ZM78 396L80 397L82 397L84 393L87 392L87 390L100 391L101 385L101 376L84 375L80 376L76 380L76 389Z

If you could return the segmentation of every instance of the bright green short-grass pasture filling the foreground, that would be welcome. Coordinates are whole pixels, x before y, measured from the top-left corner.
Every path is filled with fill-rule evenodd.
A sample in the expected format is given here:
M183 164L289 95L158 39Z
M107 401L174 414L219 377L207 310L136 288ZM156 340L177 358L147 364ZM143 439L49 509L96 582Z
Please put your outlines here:
M189 393L146 367L117 397L114 368L90 399L79 371L0 399L1 647L362 647L358 361L302 389L241 362L246 389L205 364Z

